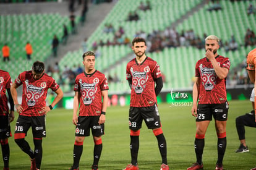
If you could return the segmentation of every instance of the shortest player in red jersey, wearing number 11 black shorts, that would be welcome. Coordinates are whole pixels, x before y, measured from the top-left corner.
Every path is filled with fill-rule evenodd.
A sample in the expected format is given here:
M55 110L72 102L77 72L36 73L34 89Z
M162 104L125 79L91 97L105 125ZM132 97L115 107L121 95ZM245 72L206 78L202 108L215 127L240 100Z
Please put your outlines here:
M104 135L105 114L108 106L108 82L103 73L95 69L95 53L87 51L83 54L85 72L75 78L75 96L73 124L75 127L74 163L70 170L79 169L79 161L83 151L83 141L90 136L94 140L92 170L98 169L102 151L101 136ZM80 104L80 108L79 108ZM79 109L79 117L77 111Z

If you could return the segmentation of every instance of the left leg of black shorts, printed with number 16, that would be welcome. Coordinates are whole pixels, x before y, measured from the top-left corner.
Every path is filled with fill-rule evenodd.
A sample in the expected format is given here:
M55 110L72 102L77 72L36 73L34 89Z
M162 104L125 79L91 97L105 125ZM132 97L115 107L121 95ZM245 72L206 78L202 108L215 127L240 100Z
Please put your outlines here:
M31 124L32 122L29 116L19 115L15 125L15 134L27 135L28 129L30 129Z

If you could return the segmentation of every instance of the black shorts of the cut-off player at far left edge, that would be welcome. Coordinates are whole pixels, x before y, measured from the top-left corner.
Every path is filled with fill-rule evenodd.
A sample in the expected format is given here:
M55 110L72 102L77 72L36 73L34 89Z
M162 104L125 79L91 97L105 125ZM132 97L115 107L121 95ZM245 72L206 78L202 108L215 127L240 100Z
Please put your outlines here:
M0 139L9 138L12 136L9 114L0 116Z

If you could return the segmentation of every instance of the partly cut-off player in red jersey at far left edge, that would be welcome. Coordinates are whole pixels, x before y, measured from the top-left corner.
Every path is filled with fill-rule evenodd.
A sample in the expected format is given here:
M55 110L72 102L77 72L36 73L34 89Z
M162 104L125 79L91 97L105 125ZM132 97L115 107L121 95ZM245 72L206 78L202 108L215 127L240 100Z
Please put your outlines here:
M10 122L14 121L14 101L11 95L12 80L8 72L0 70L0 143L4 170L9 170L10 148L8 138L12 136ZM9 113L6 90L9 96L11 111Z

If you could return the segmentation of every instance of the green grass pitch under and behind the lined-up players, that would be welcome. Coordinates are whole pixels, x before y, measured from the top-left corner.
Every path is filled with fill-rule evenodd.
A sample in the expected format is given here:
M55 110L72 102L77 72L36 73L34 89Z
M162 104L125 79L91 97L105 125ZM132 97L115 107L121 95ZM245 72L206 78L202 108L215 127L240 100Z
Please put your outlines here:
M191 116L191 106L171 106L159 104L161 124L168 146L168 164L171 169L187 169L195 162L194 138L195 118ZM246 127L248 153L235 153L239 147L235 119L252 110L252 104L246 101L230 101L227 123L227 148L224 156L224 169L250 169L256 165L255 129ZM111 106L106 113L103 152L99 169L123 169L130 163L130 131L128 125L129 106ZM17 120L15 113L15 121ZM30 160L14 142L15 121L11 123L13 137L9 138L11 149L10 169L28 170ZM46 138L43 138L43 160L41 170L69 169L73 162L75 126L72 124L72 110L53 109L46 117ZM26 140L33 148L32 132L29 130ZM203 165L205 170L215 168L217 159L217 137L214 122L211 121L205 135ZM93 162L93 139L86 137L83 143L83 155L80 169L90 169ZM153 132L143 124L140 132L139 168L160 169L161 156ZM0 168L3 162L0 160Z

